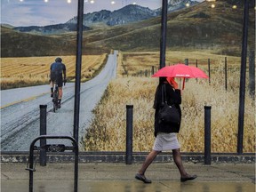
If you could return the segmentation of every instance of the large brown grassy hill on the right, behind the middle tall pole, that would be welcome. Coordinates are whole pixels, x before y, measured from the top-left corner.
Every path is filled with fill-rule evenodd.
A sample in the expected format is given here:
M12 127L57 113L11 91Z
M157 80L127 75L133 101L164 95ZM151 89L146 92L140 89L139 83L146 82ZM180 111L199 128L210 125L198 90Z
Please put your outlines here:
M254 47L255 17L251 10L249 45ZM168 15L167 48L172 50L213 50L216 53L240 54L243 36L243 8L232 9L225 1L216 2L212 9L208 2ZM157 51L160 45L161 18L115 28L125 29L121 35L105 36L92 46L106 46L123 51ZM140 26L140 28L138 28ZM105 31L107 34L107 32ZM95 35L96 36L96 35ZM92 38L92 36L91 36Z

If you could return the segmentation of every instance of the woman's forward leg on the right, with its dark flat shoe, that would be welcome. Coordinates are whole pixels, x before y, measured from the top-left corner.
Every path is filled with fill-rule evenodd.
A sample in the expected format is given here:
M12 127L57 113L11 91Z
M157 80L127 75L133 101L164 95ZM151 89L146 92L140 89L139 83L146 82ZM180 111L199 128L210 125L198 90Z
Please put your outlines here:
M196 179L196 175L189 175L188 172L185 171L185 168L182 164L182 159L181 159L181 156L180 156L180 148L177 148L177 149L172 149L172 156L173 156L173 160L175 162L175 164L177 165L179 171L180 171L180 177L181 178L189 178L189 180L194 180ZM183 180L183 181L186 181L186 180Z

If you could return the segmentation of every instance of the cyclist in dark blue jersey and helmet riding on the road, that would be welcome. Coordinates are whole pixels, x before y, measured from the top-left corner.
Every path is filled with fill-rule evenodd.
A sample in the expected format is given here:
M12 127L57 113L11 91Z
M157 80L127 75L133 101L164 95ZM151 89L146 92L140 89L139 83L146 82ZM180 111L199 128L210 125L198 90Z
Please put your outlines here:
M60 103L63 95L62 86L63 83L66 84L66 66L62 63L61 58L56 58L55 62L52 63L50 68L50 86L51 86L51 97L53 97L53 85L54 82L58 84L59 87L59 97L58 97L58 108L60 108Z

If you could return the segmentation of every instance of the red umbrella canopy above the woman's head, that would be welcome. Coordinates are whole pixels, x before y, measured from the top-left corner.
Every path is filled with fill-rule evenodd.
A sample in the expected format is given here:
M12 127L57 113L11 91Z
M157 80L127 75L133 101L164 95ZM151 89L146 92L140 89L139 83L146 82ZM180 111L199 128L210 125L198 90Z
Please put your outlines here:
M200 68L178 63L159 69L152 77L183 77L183 78L208 78Z

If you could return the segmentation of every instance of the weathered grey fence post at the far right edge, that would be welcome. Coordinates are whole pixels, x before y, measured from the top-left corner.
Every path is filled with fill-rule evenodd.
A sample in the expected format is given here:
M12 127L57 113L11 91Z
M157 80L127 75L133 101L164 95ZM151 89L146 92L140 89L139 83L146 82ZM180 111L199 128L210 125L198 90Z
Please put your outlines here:
M249 55L249 93L252 100L255 100L255 51Z

